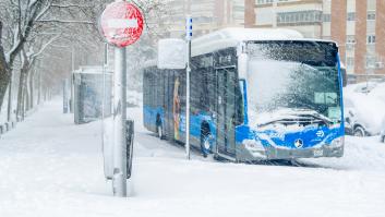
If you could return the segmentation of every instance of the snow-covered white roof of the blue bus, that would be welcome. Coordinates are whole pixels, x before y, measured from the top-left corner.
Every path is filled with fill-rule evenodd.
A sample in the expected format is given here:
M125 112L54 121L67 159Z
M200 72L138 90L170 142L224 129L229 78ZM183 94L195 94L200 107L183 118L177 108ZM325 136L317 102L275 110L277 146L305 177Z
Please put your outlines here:
M224 28L192 41L192 56L209 53L228 47L237 47L242 41L256 40L314 40L305 39L303 35L293 29L287 28Z

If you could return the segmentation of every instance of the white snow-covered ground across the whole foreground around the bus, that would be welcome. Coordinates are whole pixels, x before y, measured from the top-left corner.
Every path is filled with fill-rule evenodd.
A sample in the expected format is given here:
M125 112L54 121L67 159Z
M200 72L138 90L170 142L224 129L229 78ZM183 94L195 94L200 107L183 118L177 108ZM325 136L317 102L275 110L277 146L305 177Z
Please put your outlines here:
M385 144L347 137L340 159L303 167L217 162L158 141L136 120L132 195L104 180L100 123L47 103L0 138L0 217L385 216Z

